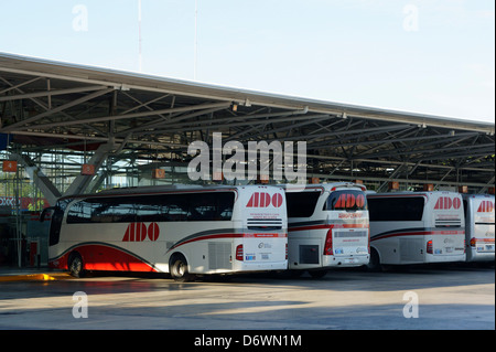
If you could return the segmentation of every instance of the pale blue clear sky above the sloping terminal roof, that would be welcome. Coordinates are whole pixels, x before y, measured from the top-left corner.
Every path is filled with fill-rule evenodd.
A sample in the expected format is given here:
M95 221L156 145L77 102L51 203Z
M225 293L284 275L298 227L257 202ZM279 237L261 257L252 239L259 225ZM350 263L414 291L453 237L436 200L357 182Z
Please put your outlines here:
M0 13L3 53L495 118L494 0L141 0L141 67L139 0L0 0Z

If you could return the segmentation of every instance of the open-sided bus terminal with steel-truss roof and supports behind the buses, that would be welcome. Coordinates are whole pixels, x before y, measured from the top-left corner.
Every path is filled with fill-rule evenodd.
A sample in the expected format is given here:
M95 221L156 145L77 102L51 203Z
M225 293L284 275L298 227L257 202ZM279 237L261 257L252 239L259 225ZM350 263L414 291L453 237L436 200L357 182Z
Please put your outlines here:
M37 216L63 195L285 181L222 174L193 181L188 148L195 141L213 146L214 136L246 151L250 142L304 141L300 167L308 182L494 193L495 125L476 120L0 53L0 266L46 264L47 224Z

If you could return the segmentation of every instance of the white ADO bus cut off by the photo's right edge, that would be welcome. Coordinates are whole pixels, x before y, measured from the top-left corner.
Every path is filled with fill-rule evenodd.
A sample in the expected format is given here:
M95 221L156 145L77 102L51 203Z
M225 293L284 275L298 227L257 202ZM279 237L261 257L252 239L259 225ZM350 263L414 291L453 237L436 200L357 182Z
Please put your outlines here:
M467 262L494 262L495 198L463 194Z

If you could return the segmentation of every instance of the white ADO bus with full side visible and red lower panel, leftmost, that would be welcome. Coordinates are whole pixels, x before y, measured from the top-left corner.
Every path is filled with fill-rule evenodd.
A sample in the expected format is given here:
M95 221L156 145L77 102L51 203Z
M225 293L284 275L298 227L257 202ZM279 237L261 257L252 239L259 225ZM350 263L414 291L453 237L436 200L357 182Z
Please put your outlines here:
M43 218L43 214L42 214ZM195 275L285 270L285 196L265 185L151 186L66 196L53 209L48 263L85 270Z

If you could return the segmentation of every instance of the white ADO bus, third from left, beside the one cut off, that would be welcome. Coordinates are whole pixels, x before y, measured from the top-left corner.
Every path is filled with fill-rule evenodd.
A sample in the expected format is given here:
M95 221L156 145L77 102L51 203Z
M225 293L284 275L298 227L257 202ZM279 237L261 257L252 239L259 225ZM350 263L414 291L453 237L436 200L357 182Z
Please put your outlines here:
M465 260L462 195L454 192L367 194L370 269Z

